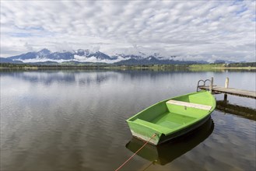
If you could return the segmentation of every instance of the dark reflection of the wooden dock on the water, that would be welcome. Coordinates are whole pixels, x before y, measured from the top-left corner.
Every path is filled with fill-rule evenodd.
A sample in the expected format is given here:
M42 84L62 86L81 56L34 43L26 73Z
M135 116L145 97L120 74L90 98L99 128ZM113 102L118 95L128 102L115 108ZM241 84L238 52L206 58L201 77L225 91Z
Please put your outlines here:
M237 104L230 104L225 100L218 100L216 109L223 113L231 113L249 120L256 120L256 109L247 106L238 106Z

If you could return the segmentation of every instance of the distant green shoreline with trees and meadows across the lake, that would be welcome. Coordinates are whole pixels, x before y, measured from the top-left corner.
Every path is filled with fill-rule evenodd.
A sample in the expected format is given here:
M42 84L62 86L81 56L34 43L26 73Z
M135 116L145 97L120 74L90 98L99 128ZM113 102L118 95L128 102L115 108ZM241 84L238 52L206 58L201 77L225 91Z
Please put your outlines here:
M211 70L255 70L256 62L226 64L187 64L187 65L30 65L30 64L9 64L0 63L0 70L3 69L104 69L104 70L188 70L188 71L211 71Z

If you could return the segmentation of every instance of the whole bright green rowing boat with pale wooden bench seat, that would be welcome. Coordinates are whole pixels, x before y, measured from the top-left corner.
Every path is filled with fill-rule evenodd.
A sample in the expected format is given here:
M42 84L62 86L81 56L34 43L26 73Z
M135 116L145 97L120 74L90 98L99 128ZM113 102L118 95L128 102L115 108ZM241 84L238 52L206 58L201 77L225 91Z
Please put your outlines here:
M126 120L135 138L159 145L201 126L216 107L208 91L163 100Z

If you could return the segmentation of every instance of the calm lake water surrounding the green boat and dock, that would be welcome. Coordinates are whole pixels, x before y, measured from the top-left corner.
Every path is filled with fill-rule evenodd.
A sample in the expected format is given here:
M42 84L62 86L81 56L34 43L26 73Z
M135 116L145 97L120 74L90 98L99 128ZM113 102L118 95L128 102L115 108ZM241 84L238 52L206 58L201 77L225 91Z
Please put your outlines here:
M216 85L228 76L230 87L256 89L256 72L0 73L1 170L114 170L141 145L125 120L147 106L212 76ZM122 170L255 170L255 99L228 100L230 109L215 110L198 131L147 145Z

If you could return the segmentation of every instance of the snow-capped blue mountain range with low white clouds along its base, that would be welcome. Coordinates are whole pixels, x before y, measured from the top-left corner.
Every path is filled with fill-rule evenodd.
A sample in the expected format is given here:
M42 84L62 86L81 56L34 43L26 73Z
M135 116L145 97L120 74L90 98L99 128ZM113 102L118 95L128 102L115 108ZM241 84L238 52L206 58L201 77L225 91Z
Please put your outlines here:
M37 52L28 52L9 58L0 58L0 63L30 63L30 64L58 64L72 62L72 64L105 63L114 65L181 65L181 64L206 64L206 61L178 61L175 56L163 57L160 54L114 54L108 55L100 51L79 49L77 51L51 52L44 48Z

